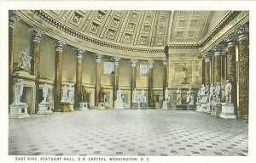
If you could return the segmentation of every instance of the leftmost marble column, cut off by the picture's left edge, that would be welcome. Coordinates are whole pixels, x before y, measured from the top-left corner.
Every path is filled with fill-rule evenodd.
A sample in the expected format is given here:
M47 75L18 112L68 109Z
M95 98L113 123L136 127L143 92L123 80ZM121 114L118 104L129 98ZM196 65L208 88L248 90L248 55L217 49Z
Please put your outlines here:
M15 40L15 21L20 20L13 11L9 11L9 104L13 103L14 94L14 40Z

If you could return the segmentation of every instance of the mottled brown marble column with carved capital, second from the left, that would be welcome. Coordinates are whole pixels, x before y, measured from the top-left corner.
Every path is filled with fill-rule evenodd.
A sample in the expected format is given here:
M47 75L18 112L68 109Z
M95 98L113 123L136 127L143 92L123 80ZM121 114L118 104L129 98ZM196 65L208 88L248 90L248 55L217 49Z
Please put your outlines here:
M44 37L44 31L40 31L37 28L31 28L30 32L30 53L31 59L31 70L30 74L35 76L35 113L38 112L39 101L39 77L40 77L40 50L41 50L41 39ZM32 113L32 114L35 114Z

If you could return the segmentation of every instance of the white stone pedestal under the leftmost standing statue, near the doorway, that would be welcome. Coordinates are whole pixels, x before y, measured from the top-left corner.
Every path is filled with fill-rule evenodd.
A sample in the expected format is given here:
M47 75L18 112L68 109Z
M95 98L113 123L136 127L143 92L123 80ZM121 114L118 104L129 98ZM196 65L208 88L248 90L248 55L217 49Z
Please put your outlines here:
M9 105L9 118L26 118L29 117L27 113L27 104L20 103L20 104L10 104Z

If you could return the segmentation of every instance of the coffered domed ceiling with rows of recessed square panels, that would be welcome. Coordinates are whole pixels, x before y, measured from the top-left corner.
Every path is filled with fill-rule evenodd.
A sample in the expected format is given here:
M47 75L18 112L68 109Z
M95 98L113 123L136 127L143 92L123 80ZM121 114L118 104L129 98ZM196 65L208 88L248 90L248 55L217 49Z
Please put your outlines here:
M200 42L229 11L33 10L18 14L50 36L79 43L92 52L115 55L124 53L116 50L126 50L164 57L166 45Z

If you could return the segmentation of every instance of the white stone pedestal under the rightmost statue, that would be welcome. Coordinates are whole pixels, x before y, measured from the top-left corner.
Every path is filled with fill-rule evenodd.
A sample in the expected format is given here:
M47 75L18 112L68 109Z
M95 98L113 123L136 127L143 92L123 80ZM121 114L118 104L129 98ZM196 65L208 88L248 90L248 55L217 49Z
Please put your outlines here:
M230 103L223 103L222 104L222 111L219 115L219 117L224 118L224 119L236 119L236 115L235 115L235 108L234 108L234 104L230 104Z

